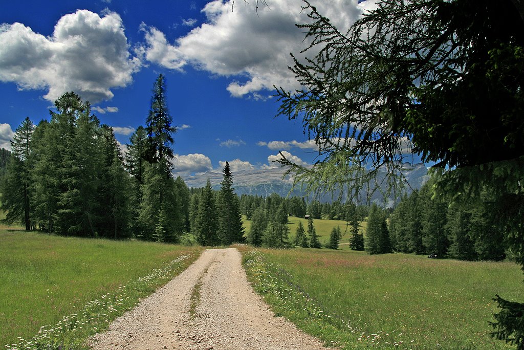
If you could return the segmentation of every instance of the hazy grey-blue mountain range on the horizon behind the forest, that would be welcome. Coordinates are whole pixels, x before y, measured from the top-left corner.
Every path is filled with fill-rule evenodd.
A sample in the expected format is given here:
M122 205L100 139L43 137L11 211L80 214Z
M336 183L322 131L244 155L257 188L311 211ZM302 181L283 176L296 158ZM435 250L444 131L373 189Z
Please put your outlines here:
M268 196L271 193L277 193L280 196L287 196L292 188L293 178L291 176L283 178L284 172L284 168L237 171L233 173L233 187L238 195L253 194L258 196ZM429 177L428 169L422 163L415 165L404 163L402 165L402 173L409 183L409 186L407 186L408 193L410 193L412 189L420 189L422 184L427 181ZM193 188L204 187L209 179L215 190L220 189L220 182L223 179L221 172L212 171L205 172L201 175L182 178L188 187ZM291 195L304 196L306 193L298 188L294 189ZM329 202L331 201L331 198L332 196L328 194L321 200ZM382 202L383 198L380 193L375 193L372 201ZM392 204L393 203L391 202L390 205Z

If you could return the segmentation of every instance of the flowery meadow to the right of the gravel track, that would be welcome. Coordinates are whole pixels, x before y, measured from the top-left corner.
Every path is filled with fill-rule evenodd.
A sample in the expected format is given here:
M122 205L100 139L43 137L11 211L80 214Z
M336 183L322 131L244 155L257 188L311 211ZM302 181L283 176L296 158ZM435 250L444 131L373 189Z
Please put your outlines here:
M489 336L492 298L523 301L508 262L238 246L255 291L305 332L341 349L513 349Z

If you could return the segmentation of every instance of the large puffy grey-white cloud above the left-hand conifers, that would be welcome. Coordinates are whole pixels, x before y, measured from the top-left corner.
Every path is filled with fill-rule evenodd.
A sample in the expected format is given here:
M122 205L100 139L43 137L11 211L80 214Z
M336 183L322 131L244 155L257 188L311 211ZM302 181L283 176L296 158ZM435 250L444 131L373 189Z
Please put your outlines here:
M94 104L112 99L111 89L132 81L140 61L128 49L122 18L109 10L102 17L89 10L64 15L48 37L21 23L4 23L0 81L47 90L43 97L51 102L75 91Z

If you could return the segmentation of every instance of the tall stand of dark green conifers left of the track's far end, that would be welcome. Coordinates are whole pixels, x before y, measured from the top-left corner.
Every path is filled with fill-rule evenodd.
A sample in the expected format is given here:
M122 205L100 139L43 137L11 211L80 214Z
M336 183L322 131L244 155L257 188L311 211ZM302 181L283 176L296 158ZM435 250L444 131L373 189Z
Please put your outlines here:
M196 208L190 189L172 176L176 128L162 74L152 90L146 125L130 137L125 155L113 128L101 124L89 102L67 92L54 105L50 121L34 125L25 118L15 130L12 151L0 149L5 222L64 236L175 243L191 230L202 245L242 240L228 163L221 191L214 197L210 187L200 191Z

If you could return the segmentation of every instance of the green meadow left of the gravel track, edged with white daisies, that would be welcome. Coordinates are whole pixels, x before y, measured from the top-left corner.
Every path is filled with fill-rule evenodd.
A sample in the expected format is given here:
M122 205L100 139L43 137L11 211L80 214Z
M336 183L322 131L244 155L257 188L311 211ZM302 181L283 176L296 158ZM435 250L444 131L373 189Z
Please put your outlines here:
M0 344L82 348L201 250L0 229Z

